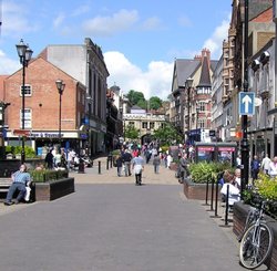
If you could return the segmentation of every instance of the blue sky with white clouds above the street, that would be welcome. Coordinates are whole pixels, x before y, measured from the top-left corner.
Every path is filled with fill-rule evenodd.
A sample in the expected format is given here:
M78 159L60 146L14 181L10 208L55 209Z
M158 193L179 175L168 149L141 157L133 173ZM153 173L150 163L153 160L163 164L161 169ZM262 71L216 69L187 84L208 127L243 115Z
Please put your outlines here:
M166 100L175 59L205 48L220 58L230 12L232 0L0 0L0 74L20 69L20 39L35 58L49 44L90 38L102 49L109 87Z

